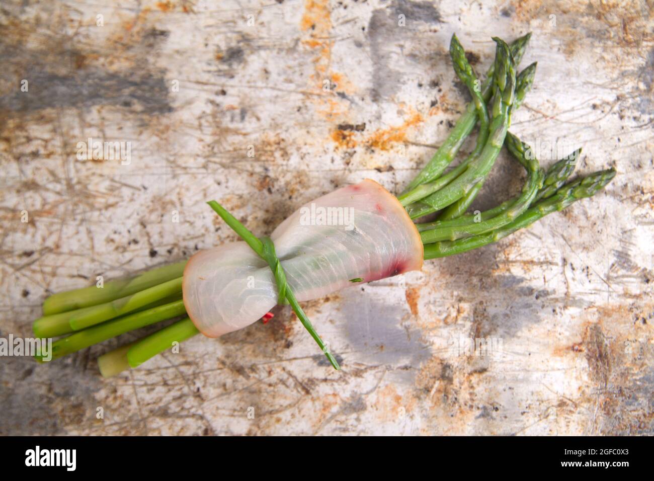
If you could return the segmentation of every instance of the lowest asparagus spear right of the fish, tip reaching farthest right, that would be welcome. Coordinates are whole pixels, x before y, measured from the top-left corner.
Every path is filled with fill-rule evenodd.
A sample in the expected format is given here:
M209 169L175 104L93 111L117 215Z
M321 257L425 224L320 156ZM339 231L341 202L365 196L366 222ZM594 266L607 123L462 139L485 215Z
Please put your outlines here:
M615 169L602 170L594 172L587 177L582 177L577 181L560 187L555 195L537 202L520 217L515 219L515 221L506 224L502 228L466 239L440 241L425 245L424 258L447 257L496 242L509 234L513 234L516 230L530 226L547 214L565 209L568 205L579 199L594 196L594 194L610 183L613 177L615 177Z

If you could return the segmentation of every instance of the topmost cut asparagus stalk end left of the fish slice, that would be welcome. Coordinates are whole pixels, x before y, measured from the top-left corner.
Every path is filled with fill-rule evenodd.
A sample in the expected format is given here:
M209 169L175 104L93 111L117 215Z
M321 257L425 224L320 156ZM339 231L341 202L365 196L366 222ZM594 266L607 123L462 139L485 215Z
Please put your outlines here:
M91 286L52 294L43 302L43 315L47 316L88 306L96 306L181 277L186 262L186 260L182 260L181 262L175 262L175 264L149 270L129 279L110 281L104 283L103 287Z

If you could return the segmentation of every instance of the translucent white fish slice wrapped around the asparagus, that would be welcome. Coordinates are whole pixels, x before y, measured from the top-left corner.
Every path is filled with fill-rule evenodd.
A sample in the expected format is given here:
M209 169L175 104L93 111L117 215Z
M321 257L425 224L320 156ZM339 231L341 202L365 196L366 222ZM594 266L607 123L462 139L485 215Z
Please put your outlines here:
M422 267L422 241L398 200L366 179L305 204L270 236L298 301ZM184 306L198 330L218 337L256 322L277 304L275 276L247 243L190 258Z

